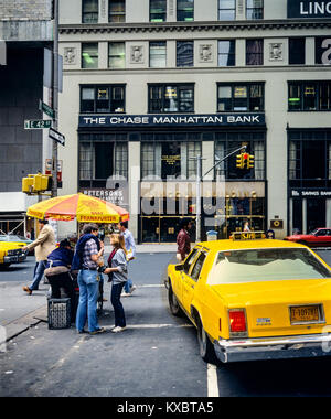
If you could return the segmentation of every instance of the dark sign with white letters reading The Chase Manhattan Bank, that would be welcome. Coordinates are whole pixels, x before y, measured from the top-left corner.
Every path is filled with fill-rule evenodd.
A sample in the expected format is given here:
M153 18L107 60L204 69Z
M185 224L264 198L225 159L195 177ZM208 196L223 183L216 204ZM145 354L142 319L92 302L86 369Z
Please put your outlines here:
M265 126L264 114L217 115L89 115L79 116L79 128L94 127L171 127L171 126Z

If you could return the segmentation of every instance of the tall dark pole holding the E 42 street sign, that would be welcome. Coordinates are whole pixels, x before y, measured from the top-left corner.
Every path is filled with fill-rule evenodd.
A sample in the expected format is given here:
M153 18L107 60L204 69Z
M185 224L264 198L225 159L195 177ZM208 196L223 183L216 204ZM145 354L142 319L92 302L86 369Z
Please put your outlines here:
M53 42L53 128L58 126L58 0L54 0L54 42ZM52 147L52 197L57 196L57 141Z

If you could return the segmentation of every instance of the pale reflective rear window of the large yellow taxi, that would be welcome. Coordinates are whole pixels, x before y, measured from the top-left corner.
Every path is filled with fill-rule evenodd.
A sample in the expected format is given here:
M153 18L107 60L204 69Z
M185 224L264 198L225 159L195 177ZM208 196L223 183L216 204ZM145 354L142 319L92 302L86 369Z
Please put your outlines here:
M220 251L207 283L242 283L331 278L331 271L309 249Z

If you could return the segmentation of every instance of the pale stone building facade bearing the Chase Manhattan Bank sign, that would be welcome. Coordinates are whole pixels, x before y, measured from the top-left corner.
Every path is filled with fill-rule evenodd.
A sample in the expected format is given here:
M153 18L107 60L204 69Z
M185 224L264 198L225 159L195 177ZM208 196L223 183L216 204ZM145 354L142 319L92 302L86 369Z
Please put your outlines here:
M62 194L126 206L140 243L171 243L195 217L201 157L202 238L331 225L329 2L62 0L60 14ZM243 146L253 169L223 160Z

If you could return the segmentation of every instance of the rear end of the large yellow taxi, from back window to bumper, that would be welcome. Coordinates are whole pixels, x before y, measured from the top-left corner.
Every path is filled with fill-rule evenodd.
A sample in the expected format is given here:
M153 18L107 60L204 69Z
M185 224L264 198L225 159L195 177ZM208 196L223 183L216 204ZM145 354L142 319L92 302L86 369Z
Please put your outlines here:
M222 362L331 354L331 271L305 246L234 244L217 253L206 286L223 302L213 341Z

